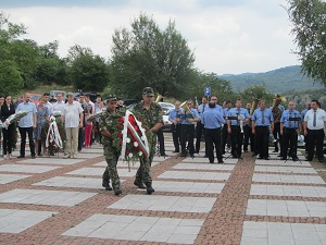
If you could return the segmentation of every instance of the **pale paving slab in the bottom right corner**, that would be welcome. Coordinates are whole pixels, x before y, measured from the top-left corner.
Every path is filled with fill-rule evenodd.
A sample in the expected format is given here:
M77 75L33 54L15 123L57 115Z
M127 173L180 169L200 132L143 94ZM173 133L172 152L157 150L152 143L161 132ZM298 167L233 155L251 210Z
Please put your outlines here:
M325 245L326 224L244 221L241 245Z

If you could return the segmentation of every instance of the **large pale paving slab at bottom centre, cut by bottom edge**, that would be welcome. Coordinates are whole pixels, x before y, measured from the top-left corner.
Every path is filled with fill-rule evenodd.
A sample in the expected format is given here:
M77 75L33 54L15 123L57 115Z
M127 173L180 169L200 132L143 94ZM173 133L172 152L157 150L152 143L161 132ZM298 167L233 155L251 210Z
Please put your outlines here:
M93 215L62 235L193 244L202 219Z

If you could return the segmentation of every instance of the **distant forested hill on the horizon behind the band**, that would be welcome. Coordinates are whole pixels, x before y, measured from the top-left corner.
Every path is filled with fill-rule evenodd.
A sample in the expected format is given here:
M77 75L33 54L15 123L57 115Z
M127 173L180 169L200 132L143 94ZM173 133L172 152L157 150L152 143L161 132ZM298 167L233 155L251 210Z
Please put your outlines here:
M264 85L266 91L280 94L324 88L323 84L303 76L300 65L286 66L265 73L225 74L218 77L230 81L234 91L237 93L253 85Z

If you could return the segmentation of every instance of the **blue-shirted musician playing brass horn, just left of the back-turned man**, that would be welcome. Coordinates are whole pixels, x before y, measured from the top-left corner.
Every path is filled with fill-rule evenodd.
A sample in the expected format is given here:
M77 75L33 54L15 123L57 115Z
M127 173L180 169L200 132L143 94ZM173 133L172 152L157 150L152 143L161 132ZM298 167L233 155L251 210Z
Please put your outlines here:
M189 155L193 158L195 147L193 147L193 137L195 137L195 123L200 121L199 114L196 109L192 108L193 101L191 99L187 100L187 107L189 111L184 109L177 115L177 120L180 123L180 145L181 154L180 157L187 157L186 143L188 139Z

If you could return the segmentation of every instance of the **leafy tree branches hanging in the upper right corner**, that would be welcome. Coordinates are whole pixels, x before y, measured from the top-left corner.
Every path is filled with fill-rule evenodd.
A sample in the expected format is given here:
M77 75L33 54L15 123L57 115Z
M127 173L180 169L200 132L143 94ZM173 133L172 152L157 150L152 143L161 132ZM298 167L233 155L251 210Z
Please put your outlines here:
M326 2L288 0L288 3L286 9L303 73L326 86Z

